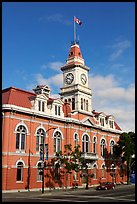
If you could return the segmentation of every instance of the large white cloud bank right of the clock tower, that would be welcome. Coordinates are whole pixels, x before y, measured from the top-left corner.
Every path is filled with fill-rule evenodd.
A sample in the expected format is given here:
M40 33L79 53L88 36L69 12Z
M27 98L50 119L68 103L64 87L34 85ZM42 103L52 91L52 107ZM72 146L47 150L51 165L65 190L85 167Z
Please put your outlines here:
M123 131L135 131L135 84L119 86L113 75L89 75L93 109L115 117Z

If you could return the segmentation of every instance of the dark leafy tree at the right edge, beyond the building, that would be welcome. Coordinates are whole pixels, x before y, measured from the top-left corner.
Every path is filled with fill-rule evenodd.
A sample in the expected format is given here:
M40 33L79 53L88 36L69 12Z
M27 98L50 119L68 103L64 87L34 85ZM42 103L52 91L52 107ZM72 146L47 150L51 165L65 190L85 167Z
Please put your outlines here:
M130 175L133 165L135 165L135 133L123 132L114 149L115 157L121 160L121 164L126 162L127 184L130 184Z

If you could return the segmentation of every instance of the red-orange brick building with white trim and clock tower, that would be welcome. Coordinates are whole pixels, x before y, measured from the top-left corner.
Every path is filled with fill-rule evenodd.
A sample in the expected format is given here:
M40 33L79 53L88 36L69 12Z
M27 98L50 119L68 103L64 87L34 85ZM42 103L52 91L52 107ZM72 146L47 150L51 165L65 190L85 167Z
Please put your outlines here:
M63 188L65 177L56 179L55 165L50 165L56 152L64 145L79 144L88 159L88 171L93 173L89 186L100 181L115 182L124 177L119 166L106 165L104 151L113 154L121 128L113 115L92 110L92 91L88 85L89 67L85 66L80 47L71 45L66 64L61 67L63 87L60 98L50 96L47 85L37 85L34 92L9 87L2 92L2 190L39 190L42 186L41 145L48 146L48 161L44 170L44 188ZM44 142L43 142L44 138ZM61 167L60 167L61 168ZM77 182L85 185L81 172L72 172L68 187Z

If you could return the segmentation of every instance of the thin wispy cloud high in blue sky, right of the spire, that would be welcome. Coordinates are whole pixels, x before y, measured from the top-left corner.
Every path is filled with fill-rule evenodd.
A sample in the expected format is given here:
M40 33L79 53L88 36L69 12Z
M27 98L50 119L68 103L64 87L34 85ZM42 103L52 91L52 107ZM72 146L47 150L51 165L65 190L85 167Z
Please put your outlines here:
M130 46L131 46L131 43L128 40L117 42L116 44L109 46L110 48L113 49L113 53L110 55L109 60L113 61L113 60L117 59Z

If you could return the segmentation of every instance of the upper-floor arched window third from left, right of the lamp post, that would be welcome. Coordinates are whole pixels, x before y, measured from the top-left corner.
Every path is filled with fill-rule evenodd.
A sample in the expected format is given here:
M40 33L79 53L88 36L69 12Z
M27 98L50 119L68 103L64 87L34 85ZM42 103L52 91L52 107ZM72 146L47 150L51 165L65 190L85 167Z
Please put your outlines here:
M54 152L61 151L61 133L59 131L56 131L54 134Z

